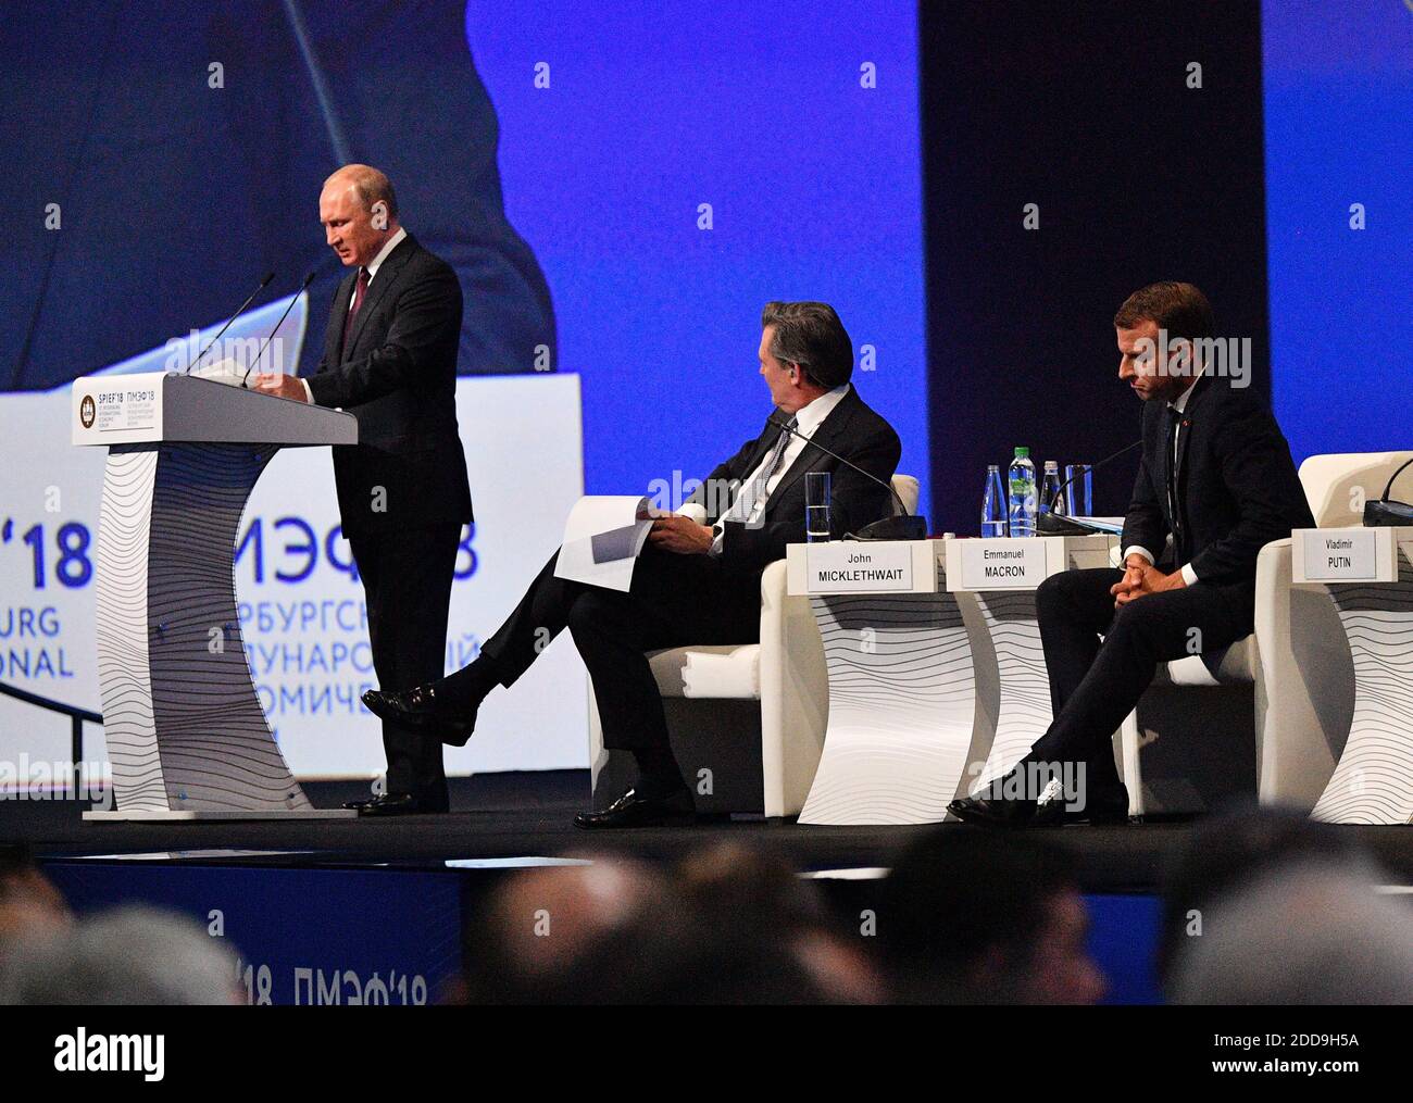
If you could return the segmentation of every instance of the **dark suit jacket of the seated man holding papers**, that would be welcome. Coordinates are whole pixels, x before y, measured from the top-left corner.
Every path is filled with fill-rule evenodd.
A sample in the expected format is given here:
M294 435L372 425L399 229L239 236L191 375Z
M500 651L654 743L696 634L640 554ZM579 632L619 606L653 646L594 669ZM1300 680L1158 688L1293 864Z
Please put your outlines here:
M742 445L740 451L725 463L716 465L715 470L706 476L706 482L692 493L688 501L706 508L708 524L715 524L721 514L731 507L731 497L714 491L714 487L722 487L729 482L745 483L766 453L774 448L779 436L780 429L767 424L760 436ZM903 452L903 445L893 427L873 412L852 387L815 429L812 442L848 458L863 470L882 479L883 483L893 477ZM855 532L870 521L892 513L893 499L885 487L865 479L818 448L812 448L811 443L804 446L804 451L786 470L774 493L766 500L766 510L759 527L752 528L743 521L725 524L721 551L723 569L759 575L764 571L766 564L784 558L787 544L804 539L805 472L831 473L829 525L835 538L845 532Z

